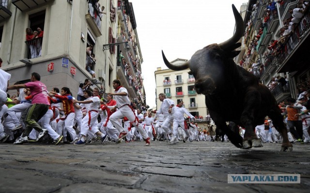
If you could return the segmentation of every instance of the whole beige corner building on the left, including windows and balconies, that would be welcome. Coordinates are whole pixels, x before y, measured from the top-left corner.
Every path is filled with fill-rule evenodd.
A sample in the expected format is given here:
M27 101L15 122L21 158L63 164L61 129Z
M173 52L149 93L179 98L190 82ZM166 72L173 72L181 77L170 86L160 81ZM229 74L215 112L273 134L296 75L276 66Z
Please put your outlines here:
M119 78L124 84L125 77L117 74L117 53L123 42L116 37L119 24L124 22L119 21L118 13L128 10L130 23L133 10L128 0L98 2L100 5L95 0L1 0L0 57L2 70L12 74L10 84L30 81L30 74L37 72L48 90L68 87L75 97L79 83L86 78L93 82L92 88L105 93L113 91L113 79ZM128 7L118 6L122 2ZM27 28L33 34L38 28L44 32L31 38ZM139 41L135 44L139 50ZM93 49L87 53L90 45ZM103 45L110 47L104 49ZM129 47L124 52L133 55L134 49ZM137 56L141 57L140 50ZM143 93L143 87L140 90ZM131 98L137 97L130 94Z

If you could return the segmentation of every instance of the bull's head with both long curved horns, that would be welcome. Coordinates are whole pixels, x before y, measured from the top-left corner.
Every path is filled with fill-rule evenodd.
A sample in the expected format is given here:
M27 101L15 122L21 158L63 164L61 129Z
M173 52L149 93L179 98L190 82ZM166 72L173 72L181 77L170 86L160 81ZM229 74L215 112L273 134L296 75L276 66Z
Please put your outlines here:
M180 71L189 68L188 74L195 77L195 89L198 94L211 94L217 88L217 85L223 80L223 67L225 59L237 56L240 47L237 43L244 32L243 20L237 9L233 6L233 15L236 22L236 30L233 37L221 44L208 45L198 50L190 60L181 65L171 64L162 51L163 59L168 68Z

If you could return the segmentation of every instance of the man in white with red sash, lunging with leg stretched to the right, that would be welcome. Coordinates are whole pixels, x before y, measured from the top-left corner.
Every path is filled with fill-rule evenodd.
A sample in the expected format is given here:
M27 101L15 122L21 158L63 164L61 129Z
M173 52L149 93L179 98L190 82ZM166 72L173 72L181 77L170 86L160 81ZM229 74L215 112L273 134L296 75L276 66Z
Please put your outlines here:
M115 111L116 108L119 108L119 111L113 113L110 117L110 121L114 125L114 127L119 130L119 141L121 141L127 133L124 131L124 128L118 124L118 119L123 117L127 117L127 119L131 122L131 124L136 127L139 133L145 140L145 146L150 145L150 137L148 134L145 133L144 129L139 123L138 118L136 117L135 112L133 111L132 107L130 106L130 100L128 98L128 91L124 87L121 86L121 81L119 79L113 80L112 84L113 88L115 89L114 93L108 93L114 95L114 99L116 101L116 106L111 108L111 111Z

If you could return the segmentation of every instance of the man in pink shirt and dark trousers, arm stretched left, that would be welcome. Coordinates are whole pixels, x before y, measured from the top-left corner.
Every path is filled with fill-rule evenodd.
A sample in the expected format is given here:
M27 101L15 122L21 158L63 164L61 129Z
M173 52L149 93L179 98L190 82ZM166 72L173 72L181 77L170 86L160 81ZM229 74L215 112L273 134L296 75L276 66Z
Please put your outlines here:
M17 139L14 144L23 144L28 142L28 135L30 134L32 128L39 132L37 140L47 133L46 129L42 129L37 123L47 112L49 101L47 99L47 87L45 84L40 82L41 76L38 73L31 74L31 82L20 85L9 86L8 90L29 88L31 91L32 101L31 106L25 111L26 115L26 129L22 136Z

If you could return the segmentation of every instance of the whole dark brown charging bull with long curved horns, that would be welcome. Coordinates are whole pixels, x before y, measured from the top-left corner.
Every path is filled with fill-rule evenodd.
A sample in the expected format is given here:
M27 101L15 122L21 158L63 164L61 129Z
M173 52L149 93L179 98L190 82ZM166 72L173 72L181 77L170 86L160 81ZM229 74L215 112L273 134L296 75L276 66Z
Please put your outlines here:
M236 31L231 39L202 48L181 65L171 64L162 52L164 62L171 70L190 69L189 74L195 77L196 92L205 95L211 118L236 147L262 147L254 129L256 125L264 123L265 116L269 116L283 136L281 150L292 150L279 107L269 89L259 84L253 74L233 62L232 58L240 53L234 49L241 45L237 42L244 32L243 20L234 5L233 14ZM244 139L233 133L226 121L244 127Z

